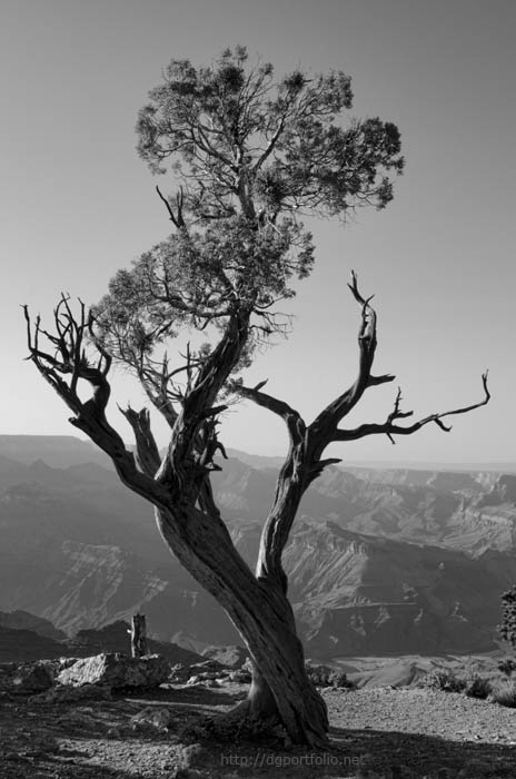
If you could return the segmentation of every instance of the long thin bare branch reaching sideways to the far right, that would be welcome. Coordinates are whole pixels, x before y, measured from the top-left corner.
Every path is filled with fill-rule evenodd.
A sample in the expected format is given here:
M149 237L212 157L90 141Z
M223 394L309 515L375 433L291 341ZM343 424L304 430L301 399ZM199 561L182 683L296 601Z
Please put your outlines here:
M395 404L394 404L394 410L390 412L388 415L386 422L383 424L364 424L359 425L358 427L355 427L354 430L337 430L335 435L334 435L334 441L357 441L358 438L364 438L366 435L378 435L378 434L384 434L387 435L389 441L395 444L394 435L411 435L413 433L416 433L418 430L424 427L425 425L429 424L430 422L434 422L440 430L445 431L446 433L449 433L452 430L450 426L445 425L443 420L446 416L456 416L457 414L467 414L470 411L474 411L475 408L479 408L480 406L487 405L490 400L490 393L487 386L487 375L488 372L484 373L482 375L482 384L484 387L484 398L479 401L478 403L474 403L470 406L464 406L462 408L454 408L453 411L446 411L440 414L430 414L429 416L425 416L423 420L418 420L418 422L414 422L414 424L407 426L407 427L401 427L400 425L396 424L397 420L401 420L408 416L411 416L414 412L403 412L400 411L399 404L401 401L401 393L400 389L398 388L398 393L396 395Z

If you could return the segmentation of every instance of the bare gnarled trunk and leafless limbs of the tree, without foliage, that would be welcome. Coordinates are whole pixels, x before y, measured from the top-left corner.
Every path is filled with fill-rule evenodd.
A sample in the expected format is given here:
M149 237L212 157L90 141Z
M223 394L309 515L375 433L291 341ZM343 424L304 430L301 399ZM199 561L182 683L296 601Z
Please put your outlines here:
M479 403L441 414L434 414L408 427L398 420L409 416L400 411L400 394L383 425L363 425L345 431L340 421L359 402L370 386L393 381L389 374L373 376L376 349L376 313L370 298L358 292L356 276L350 285L361 306L358 336L359 371L355 383L311 423L306 425L300 414L284 401L264 393L265 383L250 388L234 383L232 389L242 397L279 415L289 434L289 451L280 470L276 494L260 541L256 572L252 573L236 550L218 511L210 484L210 472L217 451L222 451L217 437L217 416L226 407L218 401L222 387L242 354L250 333L251 308L236 306L216 348L197 369L189 371L187 387L179 398L180 407L170 406L171 438L168 452L160 461L146 410L122 412L135 433L137 457L128 451L121 436L108 423L106 407L110 396L109 355L92 334L98 359L87 355L85 336L91 334L91 318L81 305L79 318L71 313L63 297L54 312L56 334L41 328L39 318L31 323L24 309L30 359L71 408L70 422L85 432L112 460L121 481L156 506L160 533L171 552L187 571L225 608L240 632L254 663L254 678L247 701L235 717L255 720L277 718L295 743L322 747L327 741L328 717L320 694L309 681L301 643L297 637L292 609L287 599L287 575L281 558L302 495L311 482L335 458L321 457L326 446L335 441L351 441L373 433L407 435L435 422L449 430L443 418L463 414L489 401L487 374L483 376L485 397ZM53 349L43 351L46 337ZM149 366L146 367L150 371ZM166 369L150 376L149 396L158 402L166 391ZM168 375L168 374L167 374ZM91 397L81 401L77 385L91 386Z

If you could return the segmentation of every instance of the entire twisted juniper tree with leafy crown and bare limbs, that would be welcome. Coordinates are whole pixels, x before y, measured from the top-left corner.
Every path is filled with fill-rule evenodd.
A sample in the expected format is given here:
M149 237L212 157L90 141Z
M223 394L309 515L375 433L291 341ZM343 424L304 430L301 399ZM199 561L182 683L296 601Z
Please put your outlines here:
M409 435L487 403L401 421L400 394L377 424L341 426L371 387L391 382L374 375L376 313L349 285L359 306L359 365L353 384L311 421L286 401L246 385L259 344L285 322L278 304L309 276L314 244L304 215L346 219L361 206L385 208L401 172L400 136L378 118L347 119L350 79L341 71L301 70L276 80L271 65L251 67L246 50L224 51L209 67L172 60L149 92L138 124L138 151L156 175L171 171L176 190L158 187L172 234L119 270L91 310L73 314L62 297L54 329L44 331L26 308L30 358L71 408L71 424L112 460L121 481L156 509L165 543L225 608L249 650L254 673L235 718L277 719L296 743L321 746L327 710L307 677L301 642L287 596L281 556L302 495L322 470L335 442L368 435ZM175 362L165 351L181 333L205 342ZM46 342L46 345L43 344ZM95 353L97 353L95 355ZM112 362L139 379L166 420L170 440L160 456L147 408L122 414L132 427L136 456L106 417ZM79 383L91 397L79 397ZM210 476L221 413L244 398L278 415L289 447L272 506L265 517L254 571L237 552L214 499Z

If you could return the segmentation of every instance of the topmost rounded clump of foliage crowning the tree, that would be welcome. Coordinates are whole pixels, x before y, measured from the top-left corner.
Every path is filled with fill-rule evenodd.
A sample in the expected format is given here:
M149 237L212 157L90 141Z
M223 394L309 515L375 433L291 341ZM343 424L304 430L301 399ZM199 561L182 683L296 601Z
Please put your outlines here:
M403 169L398 129L378 118L336 122L353 105L344 72L296 70L275 81L270 63L248 67L237 47L211 67L172 60L163 80L140 111L138 150L153 172L170 165L179 175L194 218L241 210L275 223L285 213L341 215L391 199L386 174Z

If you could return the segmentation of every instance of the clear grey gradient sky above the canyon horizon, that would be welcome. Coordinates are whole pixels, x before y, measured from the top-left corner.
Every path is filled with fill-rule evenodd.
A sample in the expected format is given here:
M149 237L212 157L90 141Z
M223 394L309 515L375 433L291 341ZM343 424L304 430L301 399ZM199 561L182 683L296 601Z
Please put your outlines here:
M246 383L268 378L309 422L354 381L355 269L363 293L375 293L375 373L397 379L369 389L350 424L383 422L397 384L416 416L469 405L486 367L493 400L448 434L431 425L396 446L371 436L329 453L515 462L515 33L512 0L1 0L0 434L77 434L23 359L20 305L49 322L61 292L95 303L117 269L168 235L135 150L137 111L171 58L209 63L240 43L278 76L347 72L349 115L394 121L406 157L385 210L312 225L316 268L289 304L292 333L258 356ZM113 394L143 404L121 372ZM116 403L109 418L130 442ZM163 444L158 420L156 433ZM282 423L246 404L226 414L221 440L259 454L286 448Z

